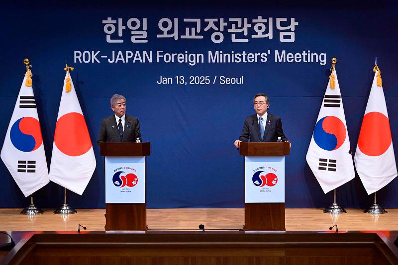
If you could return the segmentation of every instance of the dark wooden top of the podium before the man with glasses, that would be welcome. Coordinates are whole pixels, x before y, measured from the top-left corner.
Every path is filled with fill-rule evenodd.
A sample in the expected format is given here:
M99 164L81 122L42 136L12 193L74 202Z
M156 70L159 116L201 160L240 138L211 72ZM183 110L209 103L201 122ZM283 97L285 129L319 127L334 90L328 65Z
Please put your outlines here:
M246 143L241 142L239 148L241 156L288 156L289 142Z

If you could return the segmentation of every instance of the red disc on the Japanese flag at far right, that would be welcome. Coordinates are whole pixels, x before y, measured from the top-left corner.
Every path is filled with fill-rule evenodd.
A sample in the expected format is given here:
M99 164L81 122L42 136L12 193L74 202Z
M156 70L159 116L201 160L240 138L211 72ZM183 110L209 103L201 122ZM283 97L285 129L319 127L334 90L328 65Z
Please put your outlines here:
M359 150L368 156L380 156L389 149L391 141L389 118L380 112L366 113L359 133Z

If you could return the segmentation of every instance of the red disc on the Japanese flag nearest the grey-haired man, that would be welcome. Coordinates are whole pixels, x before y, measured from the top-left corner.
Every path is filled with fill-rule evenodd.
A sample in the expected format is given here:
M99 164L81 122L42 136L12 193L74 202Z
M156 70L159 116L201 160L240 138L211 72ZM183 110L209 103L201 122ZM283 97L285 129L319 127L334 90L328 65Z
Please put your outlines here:
M55 127L54 143L67 156L87 153L92 145L83 115L71 112L61 116Z

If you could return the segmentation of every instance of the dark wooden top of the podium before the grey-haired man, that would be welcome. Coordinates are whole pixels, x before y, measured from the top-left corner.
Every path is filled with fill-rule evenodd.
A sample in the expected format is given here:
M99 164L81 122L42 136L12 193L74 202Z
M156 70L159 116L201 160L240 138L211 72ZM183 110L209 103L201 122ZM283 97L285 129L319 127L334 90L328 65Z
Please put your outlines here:
M106 157L143 157L151 154L151 143L100 142L100 155Z

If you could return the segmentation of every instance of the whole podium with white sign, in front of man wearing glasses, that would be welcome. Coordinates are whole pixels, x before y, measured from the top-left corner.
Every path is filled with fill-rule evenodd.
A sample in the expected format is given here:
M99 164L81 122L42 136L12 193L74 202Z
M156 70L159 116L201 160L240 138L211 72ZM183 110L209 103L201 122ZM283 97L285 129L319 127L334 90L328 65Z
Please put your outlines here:
M240 143L245 156L245 230L285 229L285 156L289 142Z

